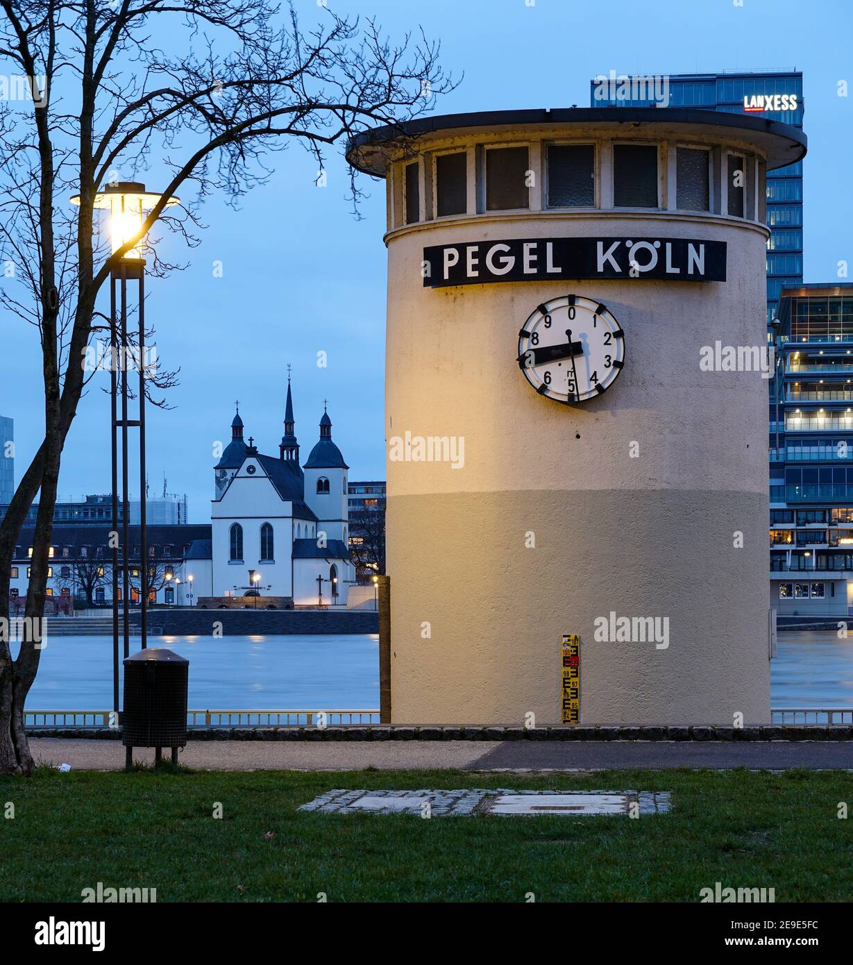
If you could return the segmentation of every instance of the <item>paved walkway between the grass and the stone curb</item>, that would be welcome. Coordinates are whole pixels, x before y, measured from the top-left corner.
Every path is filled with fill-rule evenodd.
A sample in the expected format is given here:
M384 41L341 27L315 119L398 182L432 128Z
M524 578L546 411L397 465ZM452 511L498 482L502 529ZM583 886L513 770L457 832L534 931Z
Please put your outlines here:
M32 737L35 758L74 770L124 767L117 740ZM135 760L153 751L135 750ZM164 753L168 758L168 752ZM626 767L853 768L850 741L191 741L179 760L198 770L594 770Z

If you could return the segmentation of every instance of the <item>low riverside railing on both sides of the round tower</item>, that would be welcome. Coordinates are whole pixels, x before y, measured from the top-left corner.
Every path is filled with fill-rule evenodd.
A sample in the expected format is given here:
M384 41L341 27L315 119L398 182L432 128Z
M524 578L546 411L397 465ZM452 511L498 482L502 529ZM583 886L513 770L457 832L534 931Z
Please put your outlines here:
M111 710L25 710L28 728L105 728ZM353 724L364 727L379 723L378 710L187 710L186 723L194 728L217 727L315 727L322 721L329 727ZM774 707L774 724L850 724L853 707Z

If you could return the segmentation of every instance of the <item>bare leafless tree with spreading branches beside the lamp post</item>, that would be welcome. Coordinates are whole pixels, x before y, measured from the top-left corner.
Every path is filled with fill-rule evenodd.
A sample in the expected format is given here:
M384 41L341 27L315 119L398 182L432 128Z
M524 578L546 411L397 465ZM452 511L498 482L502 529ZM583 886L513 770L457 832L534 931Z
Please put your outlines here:
M38 331L44 394L41 446L0 525L0 618L40 489L26 615L43 613L61 455L88 377L81 360L119 260L155 223L195 244L206 196L238 199L269 177L272 152L301 143L322 171L328 146L409 120L453 86L436 44L394 44L373 21L320 11L303 33L292 8L282 16L267 0L0 0L0 52L31 98L0 105L0 258L14 266L0 304ZM139 234L110 254L96 194L133 179L155 151L168 184ZM167 208L179 192L191 200ZM354 181L352 192L355 202ZM152 247L145 255L154 274L175 267ZM0 641L0 773L33 767L23 716L33 643L13 661Z

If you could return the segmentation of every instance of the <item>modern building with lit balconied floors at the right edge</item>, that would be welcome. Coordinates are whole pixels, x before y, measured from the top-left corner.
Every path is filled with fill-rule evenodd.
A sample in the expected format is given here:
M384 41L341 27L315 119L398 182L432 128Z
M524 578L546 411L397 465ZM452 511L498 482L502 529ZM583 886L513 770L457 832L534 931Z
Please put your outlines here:
M853 613L853 283L783 289L770 418L770 605Z

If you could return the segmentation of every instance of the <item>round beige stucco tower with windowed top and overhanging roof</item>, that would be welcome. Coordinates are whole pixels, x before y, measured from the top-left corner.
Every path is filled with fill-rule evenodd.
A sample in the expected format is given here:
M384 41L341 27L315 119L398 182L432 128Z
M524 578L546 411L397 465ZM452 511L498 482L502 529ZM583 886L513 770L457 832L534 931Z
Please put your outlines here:
M564 634L583 724L769 719L764 179L805 150L657 108L351 144L388 183L394 723L560 723Z

